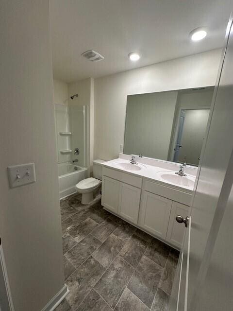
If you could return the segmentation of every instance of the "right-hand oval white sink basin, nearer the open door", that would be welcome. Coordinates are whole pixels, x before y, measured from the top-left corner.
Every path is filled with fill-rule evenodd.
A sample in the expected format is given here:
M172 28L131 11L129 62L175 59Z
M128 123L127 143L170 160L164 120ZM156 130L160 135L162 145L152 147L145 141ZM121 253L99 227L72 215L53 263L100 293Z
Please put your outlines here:
M176 184L178 186L185 186L185 187L193 187L194 186L194 182L195 182L195 178L193 176L180 176L178 174L175 174L175 172L166 172L166 171L162 171L162 172L158 172L157 173L159 175L159 177L161 178L161 180L168 182L168 183L172 183L172 184Z

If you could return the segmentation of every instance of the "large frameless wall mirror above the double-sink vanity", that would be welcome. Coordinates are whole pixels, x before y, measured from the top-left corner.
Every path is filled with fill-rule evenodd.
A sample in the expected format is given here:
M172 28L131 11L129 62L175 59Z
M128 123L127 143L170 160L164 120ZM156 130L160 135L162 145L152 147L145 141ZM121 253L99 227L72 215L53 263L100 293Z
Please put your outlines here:
M214 87L128 95L124 154L197 166Z

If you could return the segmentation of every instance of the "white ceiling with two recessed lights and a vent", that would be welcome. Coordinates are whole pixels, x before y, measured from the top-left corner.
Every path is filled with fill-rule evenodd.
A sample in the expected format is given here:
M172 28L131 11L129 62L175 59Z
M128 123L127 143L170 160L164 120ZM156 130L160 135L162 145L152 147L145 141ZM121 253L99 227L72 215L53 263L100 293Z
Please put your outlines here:
M222 47L232 8L232 0L50 0L54 78L96 78ZM199 26L208 34L193 42ZM105 59L81 56L90 49ZM132 51L139 61L129 60Z

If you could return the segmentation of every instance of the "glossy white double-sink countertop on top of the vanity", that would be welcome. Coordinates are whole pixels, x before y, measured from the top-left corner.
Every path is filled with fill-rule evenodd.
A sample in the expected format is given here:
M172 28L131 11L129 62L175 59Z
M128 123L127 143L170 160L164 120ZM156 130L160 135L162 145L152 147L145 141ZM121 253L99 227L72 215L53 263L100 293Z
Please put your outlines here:
M125 156L124 156L125 157ZM160 164L158 160L154 160L155 165L150 165L150 164L146 164L146 161L143 161L141 158L136 157L136 161L138 162L137 164L131 164L129 159L125 159L125 158L116 158L114 160L110 160L107 162L102 163L103 167L106 168L111 168L120 172L125 172L128 174L132 174L134 176L138 176L138 177L142 177L142 178L148 178L152 181L156 181L159 182L161 184L163 184L164 186L170 186L172 188L178 189L178 190L183 190L185 192L192 192L194 189L194 182L196 179L196 172L197 169L195 168L194 170L192 170L191 172L193 174L189 174L185 172L184 168L184 173L187 174L187 177L185 176L179 176L177 174L175 174L175 172L179 171L179 166L180 164L177 165L177 163L175 163L175 166L172 167L171 162L167 162L166 165L166 161L163 161L161 166L156 166L158 164ZM120 166L122 165L121 168ZM127 169L127 164L129 167L129 170ZM138 166L139 168L134 168L135 170L131 170L131 166ZM166 168L167 166L167 168ZM171 170L171 168L173 170ZM177 168L177 169L176 169ZM191 167L192 169L192 167ZM187 167L187 171L188 171L188 167ZM189 169L190 171L190 169Z

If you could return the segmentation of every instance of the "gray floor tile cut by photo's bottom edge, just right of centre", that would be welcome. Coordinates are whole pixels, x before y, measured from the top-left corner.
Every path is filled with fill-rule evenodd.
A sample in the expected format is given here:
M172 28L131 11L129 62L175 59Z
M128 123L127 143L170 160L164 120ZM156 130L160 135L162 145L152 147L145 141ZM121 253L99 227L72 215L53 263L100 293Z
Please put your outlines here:
M150 311L150 309L126 288L116 305L115 311Z

